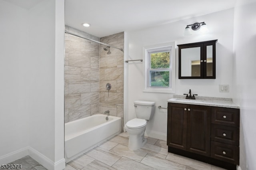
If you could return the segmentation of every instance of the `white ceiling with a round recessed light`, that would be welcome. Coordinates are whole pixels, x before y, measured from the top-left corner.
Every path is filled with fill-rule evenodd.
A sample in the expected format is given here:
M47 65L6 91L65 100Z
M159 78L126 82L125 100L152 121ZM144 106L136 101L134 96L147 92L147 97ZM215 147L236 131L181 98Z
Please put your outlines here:
M235 4L236 0L65 0L65 23L101 38L234 8ZM85 28L84 22L91 26Z

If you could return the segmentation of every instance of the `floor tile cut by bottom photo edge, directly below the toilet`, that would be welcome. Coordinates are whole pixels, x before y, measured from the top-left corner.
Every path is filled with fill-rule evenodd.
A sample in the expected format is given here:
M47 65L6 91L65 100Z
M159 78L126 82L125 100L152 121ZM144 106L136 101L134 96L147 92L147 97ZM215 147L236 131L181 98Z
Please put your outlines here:
M112 165L112 167L116 168L117 170L156 170L155 168L126 157L122 157L114 165Z

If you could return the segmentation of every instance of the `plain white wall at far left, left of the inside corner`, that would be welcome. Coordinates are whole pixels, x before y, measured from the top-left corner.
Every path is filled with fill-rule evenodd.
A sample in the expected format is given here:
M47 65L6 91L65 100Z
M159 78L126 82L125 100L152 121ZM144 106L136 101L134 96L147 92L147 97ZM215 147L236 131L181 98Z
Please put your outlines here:
M27 10L0 0L0 164L4 155L28 146L27 17Z

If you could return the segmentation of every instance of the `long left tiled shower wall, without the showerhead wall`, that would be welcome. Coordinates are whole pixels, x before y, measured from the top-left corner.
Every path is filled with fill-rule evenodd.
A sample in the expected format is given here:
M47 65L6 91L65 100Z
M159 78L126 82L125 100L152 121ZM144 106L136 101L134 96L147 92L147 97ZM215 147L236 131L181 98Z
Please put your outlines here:
M66 26L66 30L100 39ZM98 43L65 34L65 123L99 113Z

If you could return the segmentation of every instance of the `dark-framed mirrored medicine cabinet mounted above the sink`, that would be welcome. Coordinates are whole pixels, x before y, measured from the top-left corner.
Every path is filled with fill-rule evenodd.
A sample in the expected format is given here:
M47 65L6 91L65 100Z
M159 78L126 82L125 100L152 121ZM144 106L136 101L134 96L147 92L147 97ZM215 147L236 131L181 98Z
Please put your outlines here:
M217 41L178 45L179 79L215 79Z

